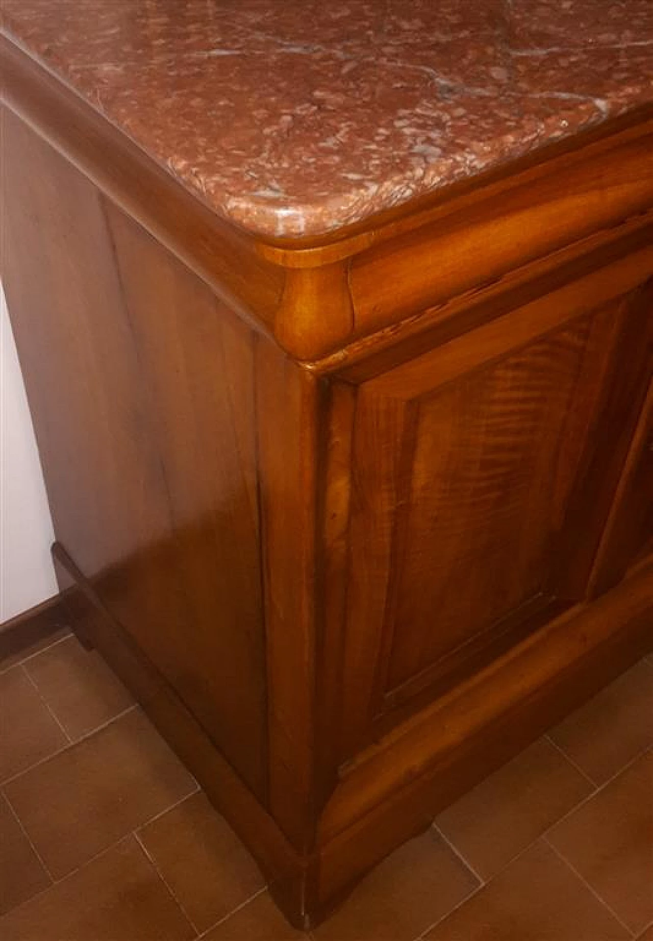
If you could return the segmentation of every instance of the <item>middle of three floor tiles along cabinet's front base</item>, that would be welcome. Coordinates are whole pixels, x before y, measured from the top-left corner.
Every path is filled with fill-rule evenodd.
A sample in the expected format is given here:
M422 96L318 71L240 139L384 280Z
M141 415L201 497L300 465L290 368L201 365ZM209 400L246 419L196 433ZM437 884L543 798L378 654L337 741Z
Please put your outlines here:
M483 879L502 869L592 785L544 739L438 816L438 829Z

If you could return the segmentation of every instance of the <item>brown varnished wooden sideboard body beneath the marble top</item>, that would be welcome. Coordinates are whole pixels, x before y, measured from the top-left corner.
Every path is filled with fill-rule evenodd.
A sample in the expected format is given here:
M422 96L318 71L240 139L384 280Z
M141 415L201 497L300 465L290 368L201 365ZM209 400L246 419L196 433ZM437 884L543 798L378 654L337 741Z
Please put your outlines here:
M75 626L314 924L653 647L651 109L284 242L2 64Z

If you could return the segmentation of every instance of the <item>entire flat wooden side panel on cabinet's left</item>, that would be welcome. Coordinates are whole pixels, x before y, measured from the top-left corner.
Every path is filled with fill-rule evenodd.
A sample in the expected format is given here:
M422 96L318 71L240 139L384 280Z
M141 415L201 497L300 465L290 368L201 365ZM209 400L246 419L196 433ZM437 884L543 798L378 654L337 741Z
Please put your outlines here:
M56 538L262 799L249 329L5 115L3 268Z

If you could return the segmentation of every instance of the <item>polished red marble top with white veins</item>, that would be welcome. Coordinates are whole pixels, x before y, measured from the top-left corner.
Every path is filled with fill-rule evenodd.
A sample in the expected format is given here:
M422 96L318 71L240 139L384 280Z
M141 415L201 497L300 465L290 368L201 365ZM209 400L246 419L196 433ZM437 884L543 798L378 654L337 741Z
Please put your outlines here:
M653 0L2 0L219 215L317 236L653 100Z

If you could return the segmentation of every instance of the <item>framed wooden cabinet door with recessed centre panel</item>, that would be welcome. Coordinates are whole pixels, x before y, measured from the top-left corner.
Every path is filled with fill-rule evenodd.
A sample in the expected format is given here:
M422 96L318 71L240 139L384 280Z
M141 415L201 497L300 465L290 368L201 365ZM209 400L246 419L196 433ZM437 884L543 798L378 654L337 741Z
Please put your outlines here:
M358 386L344 756L586 597L650 381L650 254Z

